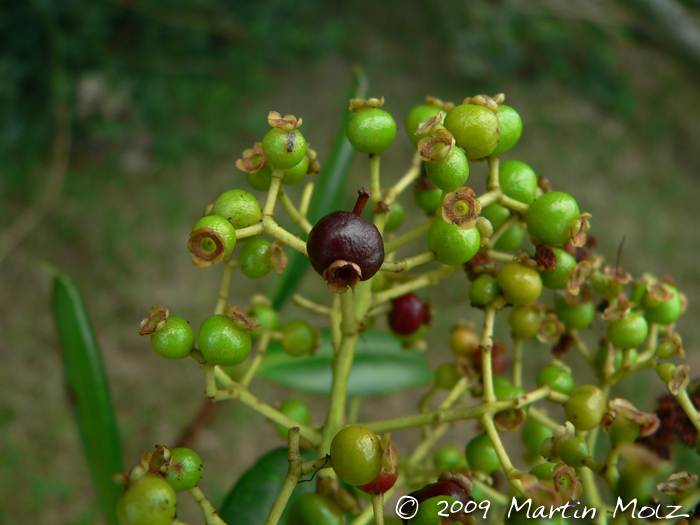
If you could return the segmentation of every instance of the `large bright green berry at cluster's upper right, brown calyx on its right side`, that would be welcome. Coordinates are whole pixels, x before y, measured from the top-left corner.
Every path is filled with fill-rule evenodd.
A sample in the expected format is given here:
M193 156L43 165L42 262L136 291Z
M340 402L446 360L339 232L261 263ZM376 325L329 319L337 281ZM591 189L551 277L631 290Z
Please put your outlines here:
M530 205L525 216L527 231L546 246L561 246L571 239L572 223L581 216L571 195L552 191Z

